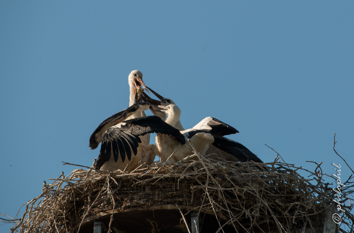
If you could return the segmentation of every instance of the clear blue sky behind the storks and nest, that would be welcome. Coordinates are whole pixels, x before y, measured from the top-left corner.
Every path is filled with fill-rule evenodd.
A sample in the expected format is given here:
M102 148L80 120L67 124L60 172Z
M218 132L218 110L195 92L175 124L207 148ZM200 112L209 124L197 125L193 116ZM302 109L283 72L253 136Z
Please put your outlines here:
M212 116L263 161L354 168L353 1L0 1L0 213L91 166L89 137L129 105L128 74ZM11 226L0 226L9 231Z

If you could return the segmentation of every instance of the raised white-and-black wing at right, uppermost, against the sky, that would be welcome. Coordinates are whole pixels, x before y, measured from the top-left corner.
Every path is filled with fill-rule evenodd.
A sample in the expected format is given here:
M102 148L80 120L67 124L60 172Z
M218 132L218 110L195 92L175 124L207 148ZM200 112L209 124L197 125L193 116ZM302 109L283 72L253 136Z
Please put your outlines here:
M239 131L234 127L229 126L228 124L225 124L224 122L213 117L205 117L201 120L201 122L196 124L193 129L207 130L210 133L215 133L219 136L239 133Z

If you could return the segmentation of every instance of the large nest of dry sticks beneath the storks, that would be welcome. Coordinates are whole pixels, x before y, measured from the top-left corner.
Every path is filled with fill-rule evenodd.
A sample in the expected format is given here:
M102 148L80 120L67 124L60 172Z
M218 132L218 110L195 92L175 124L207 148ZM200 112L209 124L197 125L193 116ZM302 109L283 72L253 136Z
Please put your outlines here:
M199 158L132 172L96 172L88 177L62 174L27 203L11 232L78 232L85 218L102 211L154 205L213 213L221 232L221 219L238 232L323 229L324 211L333 205L333 195L328 183L321 182L320 172L306 171L314 178L311 183L297 173L301 168L277 159L239 163ZM353 217L349 211L346 214ZM111 223L112 219L109 227Z

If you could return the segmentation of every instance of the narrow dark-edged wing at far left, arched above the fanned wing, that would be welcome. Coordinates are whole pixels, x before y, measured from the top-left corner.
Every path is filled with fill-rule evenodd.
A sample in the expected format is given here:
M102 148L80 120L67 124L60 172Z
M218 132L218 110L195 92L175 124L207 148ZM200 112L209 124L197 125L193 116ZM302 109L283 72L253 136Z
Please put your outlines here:
M107 131L108 128L118 124L119 122L125 121L126 118L130 117L136 112L145 111L150 107L149 102L139 102L133 104L127 109L115 113L113 116L108 117L106 120L102 121L97 129L92 133L90 137L90 147L91 149L96 149L98 144L102 141L103 134Z

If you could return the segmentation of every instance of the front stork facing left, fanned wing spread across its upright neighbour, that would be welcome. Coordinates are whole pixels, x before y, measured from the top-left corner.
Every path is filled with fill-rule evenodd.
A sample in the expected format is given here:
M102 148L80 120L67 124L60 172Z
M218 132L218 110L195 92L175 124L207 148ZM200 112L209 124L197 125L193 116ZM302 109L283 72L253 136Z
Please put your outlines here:
M129 159L133 154L138 157L144 151L140 137L148 133L156 133L156 153L160 159L169 157L168 162L177 162L194 154L192 146L186 143L184 135L173 127L181 113L179 108L176 105L161 107L164 108L162 111L168 115L166 121L158 116L147 116L133 118L110 127L103 135L97 167L103 171L123 170L123 167L129 163L126 162L125 157ZM190 137L190 141L196 150L204 155L214 140L210 133L200 132ZM112 160L112 154L115 163ZM131 166L137 167L138 162L138 160L130 162L126 170L131 170L129 169Z

